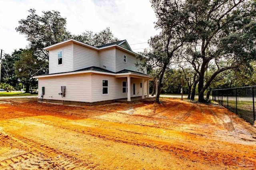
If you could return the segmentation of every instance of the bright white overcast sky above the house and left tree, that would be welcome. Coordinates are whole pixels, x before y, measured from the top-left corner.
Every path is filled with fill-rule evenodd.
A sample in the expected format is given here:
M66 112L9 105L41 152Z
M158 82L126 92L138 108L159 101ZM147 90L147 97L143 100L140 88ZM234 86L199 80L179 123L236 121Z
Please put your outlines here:
M67 20L67 30L81 34L110 27L120 40L126 39L134 52L148 48L148 39L159 33L149 0L0 0L0 49L11 54L28 45L25 35L16 32L18 21L34 8L36 14L56 10Z

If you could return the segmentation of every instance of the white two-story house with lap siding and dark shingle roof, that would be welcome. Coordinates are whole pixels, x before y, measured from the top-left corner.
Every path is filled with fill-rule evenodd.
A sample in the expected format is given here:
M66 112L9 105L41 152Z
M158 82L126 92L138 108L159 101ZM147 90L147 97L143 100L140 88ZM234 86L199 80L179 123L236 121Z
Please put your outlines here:
M149 97L152 77L136 67L126 40L94 47L69 39L49 47L49 74L38 78L38 99L100 102Z

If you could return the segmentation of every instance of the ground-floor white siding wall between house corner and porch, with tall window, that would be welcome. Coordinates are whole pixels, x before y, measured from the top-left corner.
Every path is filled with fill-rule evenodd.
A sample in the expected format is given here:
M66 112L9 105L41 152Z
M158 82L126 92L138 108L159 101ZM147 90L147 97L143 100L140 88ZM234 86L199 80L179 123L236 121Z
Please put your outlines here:
M102 80L108 80L108 95L102 94ZM92 102L127 98L127 93L122 92L122 81L127 78L92 74Z

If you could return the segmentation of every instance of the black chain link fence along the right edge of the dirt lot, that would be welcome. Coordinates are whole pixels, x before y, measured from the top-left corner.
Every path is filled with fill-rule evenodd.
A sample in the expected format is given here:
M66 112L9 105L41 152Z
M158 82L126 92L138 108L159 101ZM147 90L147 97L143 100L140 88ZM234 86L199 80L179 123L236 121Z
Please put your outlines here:
M256 86L212 90L212 100L236 113L253 125Z

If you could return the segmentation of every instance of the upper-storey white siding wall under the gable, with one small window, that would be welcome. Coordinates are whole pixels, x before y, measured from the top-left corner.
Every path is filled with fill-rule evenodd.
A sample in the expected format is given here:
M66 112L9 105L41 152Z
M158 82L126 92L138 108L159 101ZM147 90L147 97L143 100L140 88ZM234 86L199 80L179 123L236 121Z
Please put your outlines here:
M124 55L126 56L126 63L124 63ZM136 59L135 55L132 55L120 49L116 49L116 72L124 69L142 72L141 70L139 70L139 68L136 67L137 61L140 62ZM144 73L146 74L145 69Z

